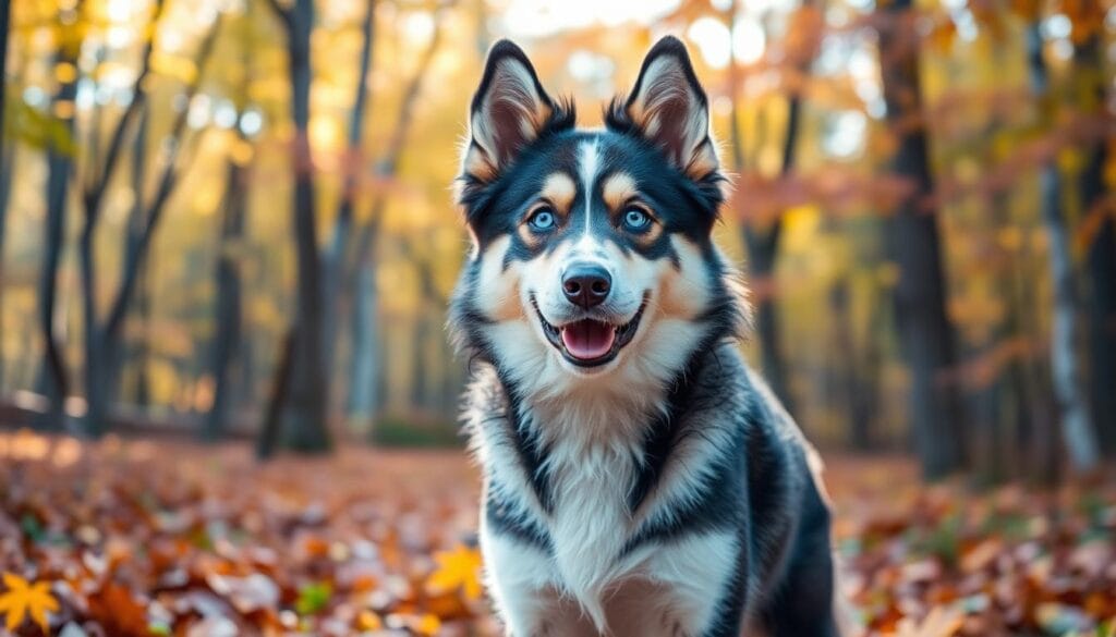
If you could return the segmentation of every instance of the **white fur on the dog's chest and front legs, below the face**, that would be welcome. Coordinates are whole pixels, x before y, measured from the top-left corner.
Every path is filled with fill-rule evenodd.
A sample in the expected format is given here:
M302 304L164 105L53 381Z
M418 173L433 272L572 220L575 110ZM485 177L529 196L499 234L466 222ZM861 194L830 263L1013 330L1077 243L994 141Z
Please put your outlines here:
M587 635L587 629L632 637L701 635L712 619L711 601L731 575L733 561L728 557L735 554L735 538L723 532L691 535L645 546L617 561L642 525L626 513L626 488L635 470L635 434L639 433L632 414L654 406L638 397L617 396L607 385L600 392L575 396L531 408L531 425L541 427L552 445L547 469L555 490L554 513L541 514L530 498L520 500L531 502L540 519L547 520L554 559L481 525L490 569L487 580L509 635ZM473 412L472 417L484 416ZM494 482L520 496L529 493L527 476L509 455L508 441L499 440L501 428L481 431L481 440L474 440L477 451ZM699 438L700 446L710 444ZM680 460L672 466L674 471L664 477L665 491L685 493L691 489L687 484L700 481L687 474L690 467L700 465ZM656 498L653 509L670 505ZM543 625L558 631L543 631ZM561 626L581 626L583 631L562 633Z

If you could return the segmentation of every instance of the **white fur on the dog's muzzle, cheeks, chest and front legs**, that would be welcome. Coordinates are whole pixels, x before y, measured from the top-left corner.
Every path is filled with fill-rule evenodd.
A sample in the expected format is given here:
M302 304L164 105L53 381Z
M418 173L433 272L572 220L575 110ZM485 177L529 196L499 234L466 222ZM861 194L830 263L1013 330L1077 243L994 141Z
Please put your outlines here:
M485 338L493 344L501 368L527 396L520 417L548 446L542 469L554 493L549 515L535 498L523 496L531 493L530 476L513 456L507 430L483 426L483 421L493 417L482 407L488 397L474 396L466 419L474 432L477 456L491 477L489 484L500 484L508 492L504 495L509 498L501 500L527 506L533 517L546 520L555 552L548 560L538 549L494 537L482 525L489 585L510 634L520 637L543 634L542 625L557 630L557 626L576 626L578 621L585 621L590 631L615 634L617 622L624 626L635 620L627 617L632 610L624 600L635 596L633 587L645 586L652 587L647 595L660 599L655 604L662 616L654 618L658 627L654 631L633 635L674 635L676 627L682 635L698 635L709 621L710 596L724 585L720 573L731 567L724 557L732 554L729 543L734 540L721 535L686 538L617 559L643 524L667 514L665 511L679 501L702 489L705 475L701 459L728 438L727 432L711 426L709 435L686 442L677 452L680 461L664 475L658 488L662 495L635 518L628 514L627 490L641 462L643 427L663 408L666 383L696 346L701 328L689 312L672 316L664 309L665 295L681 293L663 289L664 273L673 269L666 260L625 255L613 244L589 241L591 245L580 240L546 259L512 264L509 270L502 264L508 248L504 240L480 255L481 308L496 313L502 307L503 313L511 316L504 306L511 300L508 295L514 292L508 284L513 281L519 288L522 311L485 327ZM675 248L684 293L690 301L705 302L711 282L700 255L681 240L675 241ZM617 312L629 318L644 293L651 300L638 332L618 360L602 371L578 374L571 373L569 364L546 341L529 299L533 293L545 316L560 315L565 301L559 272L565 263L587 254L596 255L612 271L623 272L614 278ZM680 299L671 301L675 311L684 307ZM492 380L491 370L481 374L474 393L491 387ZM492 575L496 572L499 577ZM585 618L562 617L569 612L567 607ZM648 624L641 626L652 630Z

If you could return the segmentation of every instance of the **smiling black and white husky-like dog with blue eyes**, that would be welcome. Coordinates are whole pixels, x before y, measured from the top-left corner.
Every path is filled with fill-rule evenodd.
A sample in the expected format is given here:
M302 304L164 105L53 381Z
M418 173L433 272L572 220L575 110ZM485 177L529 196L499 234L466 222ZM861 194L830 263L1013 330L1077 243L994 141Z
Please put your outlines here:
M469 109L470 363L485 583L513 637L838 635L819 463L738 350L727 177L685 46L579 129L503 40Z

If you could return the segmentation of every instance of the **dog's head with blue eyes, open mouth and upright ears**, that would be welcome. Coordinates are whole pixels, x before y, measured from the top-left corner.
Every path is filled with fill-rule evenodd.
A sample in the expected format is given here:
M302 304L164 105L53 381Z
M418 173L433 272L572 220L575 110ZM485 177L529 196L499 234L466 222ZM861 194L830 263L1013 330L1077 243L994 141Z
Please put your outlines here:
M459 202L473 250L451 326L470 354L560 394L662 385L734 332L743 305L711 238L724 177L681 41L652 48L594 131L501 41L469 115Z

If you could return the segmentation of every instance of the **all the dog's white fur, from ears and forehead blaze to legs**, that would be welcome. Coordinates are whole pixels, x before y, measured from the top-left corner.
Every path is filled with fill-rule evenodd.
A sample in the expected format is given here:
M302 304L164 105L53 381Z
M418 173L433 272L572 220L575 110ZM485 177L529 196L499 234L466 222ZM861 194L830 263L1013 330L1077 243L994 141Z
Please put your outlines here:
M642 134L699 178L715 171L718 162L708 143L704 98L691 84L684 59L668 55L652 60L627 107ZM512 117L521 131L512 129L508 136L521 132L525 141L537 134L550 113L528 67L513 59L500 65L472 120L477 147L492 155L472 151L466 155L466 167L478 165L480 172L484 161L499 162L500 152L508 149L507 139L497 139L497 125L502 123L491 120L494 104L514 107ZM684 107L683 116L668 119L679 107ZM739 448L734 445L740 444L744 425L733 416L747 412L745 402L778 405L778 400L752 378L758 397L727 387L714 415L706 417L700 407L686 412L685 433L699 435L671 441L651 492L631 510L629 491L646 469L642 463L648 462L644 448L648 423L667 409L668 384L708 334L699 319L714 293L721 293L721 283L732 289L737 284L712 280L715 269L709 267L709 253L681 235L671 237L673 260L651 260L638 251L625 253L608 237L595 234L594 215L609 213L594 209L602 139L591 134L579 142L576 175L568 176L578 180L584 204L562 204L566 209L560 211L570 216L584 213L584 232L570 225L568 239L532 259L510 263L504 259L512 238L494 239L483 250L478 245L473 269L468 271L475 276L463 290L469 309L487 319L469 326L480 331L470 331L469 338L483 341L478 345L483 345L479 349L487 361L474 368L464 416L483 467L485 494L499 505L491 512L493 523L510 524L513 531L496 532L489 512L482 510L485 579L513 637L700 637L718 619L719 602L730 590L742 549L738 529L685 529L676 535L646 531L676 522L672 517L709 493L715 461L723 462L727 450ZM566 299L561 279L570 266L586 261L604 267L613 281L607 300L593 309L594 318L628 324L646 302L631 341L613 360L593 368L569 363L548 341L537 316L552 326L584 318L584 309ZM728 349L718 354L738 356ZM744 367L739 358L729 364ZM514 388L517 402L504 395L508 387ZM518 413L508 414L508 408ZM786 426L776 435L788 445L806 444L789 416L779 412L777 418ZM545 453L525 462L531 454L523 448L525 441L537 443ZM541 488L540 476L529 474L535 460L542 463ZM777 532L760 522L753 533ZM525 527L517 530L519 523ZM535 527L542 528L545 539L531 537ZM639 542L629 550L634 539ZM540 548L540 542L548 547ZM771 583L759 581L763 576L751 570L744 577L744 586L753 589L748 599L760 599L754 589Z

